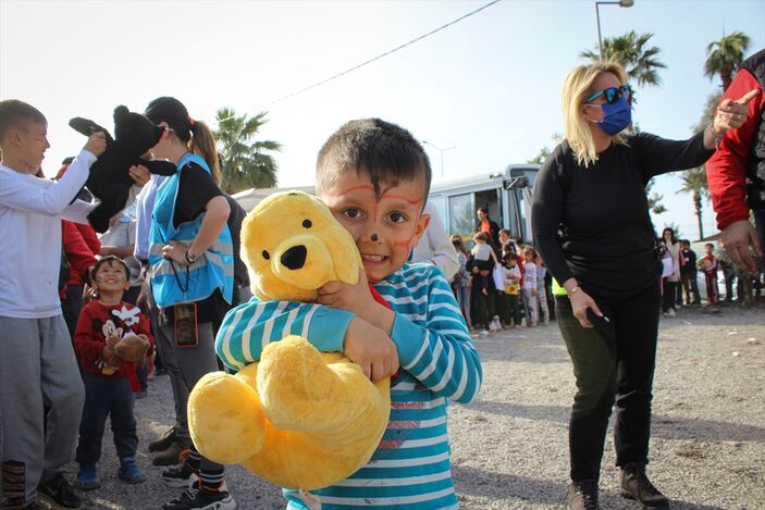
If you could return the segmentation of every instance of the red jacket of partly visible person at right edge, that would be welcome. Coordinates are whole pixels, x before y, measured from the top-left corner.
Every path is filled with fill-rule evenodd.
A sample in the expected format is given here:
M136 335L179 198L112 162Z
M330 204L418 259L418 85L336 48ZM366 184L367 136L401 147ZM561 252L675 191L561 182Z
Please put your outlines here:
M706 162L706 181L712 206L717 213L717 228L720 231L731 223L749 219L747 162L765 110L765 94L757 79L744 69L736 73L733 82L723 95L723 99L736 100L755 88L761 92L749 102L747 120L738 129L725 134L717 151Z

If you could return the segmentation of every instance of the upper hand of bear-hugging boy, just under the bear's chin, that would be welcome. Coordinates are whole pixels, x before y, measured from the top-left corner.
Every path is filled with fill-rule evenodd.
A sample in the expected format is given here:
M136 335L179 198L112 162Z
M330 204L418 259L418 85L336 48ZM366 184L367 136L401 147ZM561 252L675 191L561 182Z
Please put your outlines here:
M359 269L356 285L343 282L330 282L319 288L319 304L353 312L365 321L390 332L393 327L393 311L380 304L369 290L369 283L363 270Z

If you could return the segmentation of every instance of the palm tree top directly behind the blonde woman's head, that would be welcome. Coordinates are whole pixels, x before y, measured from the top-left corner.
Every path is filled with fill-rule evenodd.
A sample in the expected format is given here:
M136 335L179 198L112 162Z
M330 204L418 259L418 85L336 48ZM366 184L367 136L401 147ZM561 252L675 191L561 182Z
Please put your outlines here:
M579 57L590 59L592 62L614 60L621 64L627 75L639 86L658 86L662 79L659 69L667 66L658 60L662 49L657 46L647 48L649 39L653 34L640 34L630 30L620 37L606 37L603 41L603 57L596 51L582 51Z

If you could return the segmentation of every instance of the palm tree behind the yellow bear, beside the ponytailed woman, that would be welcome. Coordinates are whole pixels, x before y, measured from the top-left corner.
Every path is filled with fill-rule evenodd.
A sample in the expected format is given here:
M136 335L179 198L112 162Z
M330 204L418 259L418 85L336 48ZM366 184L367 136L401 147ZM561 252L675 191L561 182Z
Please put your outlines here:
M279 165L269 151L280 151L282 145L273 140L251 141L266 124L268 112L255 116L237 116L234 109L221 108L215 113L219 154L223 182L221 188L229 195L248 188L270 188L276 185Z

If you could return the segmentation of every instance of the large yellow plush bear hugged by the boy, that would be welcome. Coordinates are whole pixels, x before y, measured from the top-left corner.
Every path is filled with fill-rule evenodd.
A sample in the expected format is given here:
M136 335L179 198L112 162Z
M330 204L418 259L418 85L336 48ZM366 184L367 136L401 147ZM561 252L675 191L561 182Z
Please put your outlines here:
M324 283L356 284L363 268L329 208L299 191L274 194L247 215L242 258L260 300L314 301ZM388 378L372 384L342 353L288 336L236 375L202 377L189 396L188 425L205 457L312 490L369 461L390 411Z

